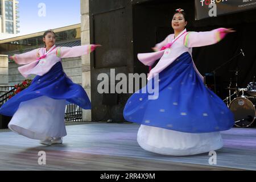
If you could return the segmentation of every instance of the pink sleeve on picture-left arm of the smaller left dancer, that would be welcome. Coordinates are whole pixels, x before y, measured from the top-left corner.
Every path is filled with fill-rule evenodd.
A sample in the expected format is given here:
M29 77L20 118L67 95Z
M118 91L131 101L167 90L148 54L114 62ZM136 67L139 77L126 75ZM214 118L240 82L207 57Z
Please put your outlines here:
M39 49L34 49L30 52L21 53L19 55L13 55L16 64L28 64L35 61L39 56Z

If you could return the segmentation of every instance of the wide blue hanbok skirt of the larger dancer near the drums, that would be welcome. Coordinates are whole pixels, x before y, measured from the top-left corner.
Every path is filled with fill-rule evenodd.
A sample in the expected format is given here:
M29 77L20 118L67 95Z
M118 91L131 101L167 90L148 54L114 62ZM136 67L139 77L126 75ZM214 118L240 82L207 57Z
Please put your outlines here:
M146 87L154 88L154 79ZM127 121L186 133L229 130L234 116L197 75L188 52L159 73L159 97L149 100L142 89L125 106Z

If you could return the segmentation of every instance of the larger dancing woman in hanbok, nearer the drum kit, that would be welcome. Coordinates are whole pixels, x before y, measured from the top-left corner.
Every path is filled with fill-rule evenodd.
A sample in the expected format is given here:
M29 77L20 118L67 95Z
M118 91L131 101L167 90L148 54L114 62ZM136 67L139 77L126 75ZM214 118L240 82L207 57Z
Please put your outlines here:
M208 32L187 32L184 10L176 10L172 19L174 34L153 48L139 53L138 59L151 66L147 88L159 83L158 98L135 92L127 101L123 115L127 121L141 124L137 141L144 150L163 155L195 155L223 146L220 131L234 125L234 117L225 103L209 90L192 59L192 47L220 42L233 32L217 28ZM158 74L157 79L156 75ZM144 88L142 88L144 89Z

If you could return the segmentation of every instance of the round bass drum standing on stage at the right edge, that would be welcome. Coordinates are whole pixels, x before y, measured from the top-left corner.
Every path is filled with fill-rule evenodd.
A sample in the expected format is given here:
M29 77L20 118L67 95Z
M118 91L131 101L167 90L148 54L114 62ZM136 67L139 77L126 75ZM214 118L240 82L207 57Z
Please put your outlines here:
M249 127L256 117L255 97L237 97L230 102L229 109L234 114L235 125Z

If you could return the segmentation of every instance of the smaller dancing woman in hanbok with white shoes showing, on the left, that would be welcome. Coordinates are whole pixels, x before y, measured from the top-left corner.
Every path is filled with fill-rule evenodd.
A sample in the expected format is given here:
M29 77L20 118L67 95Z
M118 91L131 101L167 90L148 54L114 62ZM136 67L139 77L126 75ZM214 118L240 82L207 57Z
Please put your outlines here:
M0 108L0 114L13 116L8 125L10 130L51 145L62 143L67 135L64 123L66 103L79 105L82 109L91 107L82 86L65 75L61 59L89 54L98 45L56 47L55 33L51 30L44 33L43 41L44 48L10 56L15 63L23 65L18 68L22 76L27 78L33 74L36 77L28 88Z

